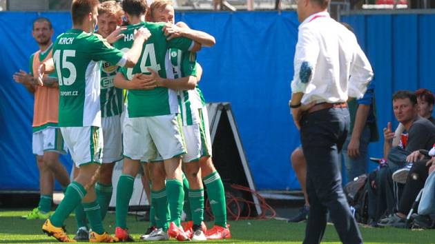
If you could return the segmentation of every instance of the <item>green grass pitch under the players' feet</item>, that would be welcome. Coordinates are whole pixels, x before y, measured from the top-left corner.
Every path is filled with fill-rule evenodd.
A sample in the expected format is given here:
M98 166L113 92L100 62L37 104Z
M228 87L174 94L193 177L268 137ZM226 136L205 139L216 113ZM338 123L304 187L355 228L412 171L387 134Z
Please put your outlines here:
M0 210L0 243L57 243L54 238L41 232L43 220L27 221L19 218L28 211ZM105 220L106 231L115 231L115 214L109 213ZM148 227L148 222L136 221L128 216L128 227L138 243L139 236ZM65 222L72 238L76 230L72 216ZM230 221L233 238L204 243L302 243L305 223L287 223L278 220ZM211 223L207 223L210 227ZM435 230L400 230L396 228L371 228L360 226L365 243L435 243ZM157 242L178 243L178 241ZM333 225L328 225L322 243L340 243Z

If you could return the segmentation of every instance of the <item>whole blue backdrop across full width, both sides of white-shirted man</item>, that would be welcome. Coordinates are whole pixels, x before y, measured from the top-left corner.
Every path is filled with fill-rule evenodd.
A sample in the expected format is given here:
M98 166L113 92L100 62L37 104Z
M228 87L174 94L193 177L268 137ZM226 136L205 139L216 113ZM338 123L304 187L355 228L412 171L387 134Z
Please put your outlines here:
M0 12L0 190L39 189L31 143L33 98L12 80L19 69L28 71L28 57L38 48L31 30L39 15L52 20L53 38L71 26L68 12ZM343 19L355 28L373 63L382 129L394 119L394 90L434 90L430 65L435 57L435 34L430 26L435 24L435 15ZM296 12L182 12L177 20L216 39L213 48L203 48L198 54L204 69L200 88L209 102L231 103L256 187L298 189L289 157L299 145L299 132L287 105L298 38ZM372 145L370 154L381 156L382 144ZM61 160L71 167L70 159Z

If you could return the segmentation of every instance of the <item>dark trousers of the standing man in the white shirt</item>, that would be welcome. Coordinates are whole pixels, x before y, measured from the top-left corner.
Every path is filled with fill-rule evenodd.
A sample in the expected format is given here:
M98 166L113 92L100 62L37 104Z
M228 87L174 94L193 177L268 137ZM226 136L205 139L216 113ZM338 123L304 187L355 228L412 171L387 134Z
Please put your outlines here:
M328 211L342 243L363 243L342 190L338 167L339 152L348 130L347 108L330 108L302 116L300 136L307 159L310 204L304 243L320 243Z

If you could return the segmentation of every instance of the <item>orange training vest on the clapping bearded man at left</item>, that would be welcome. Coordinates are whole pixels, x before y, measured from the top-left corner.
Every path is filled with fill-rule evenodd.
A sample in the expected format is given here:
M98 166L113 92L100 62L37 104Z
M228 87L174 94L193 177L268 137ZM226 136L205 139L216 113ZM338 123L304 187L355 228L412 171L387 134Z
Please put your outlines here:
M47 59L51 59L52 50L48 53L46 59L39 61L39 53L35 52L33 56L33 76L37 79L39 64ZM59 116L59 88L48 86L37 86L35 89L35 105L33 108L33 127L46 125L47 123L58 122ZM57 125L56 125L57 126Z

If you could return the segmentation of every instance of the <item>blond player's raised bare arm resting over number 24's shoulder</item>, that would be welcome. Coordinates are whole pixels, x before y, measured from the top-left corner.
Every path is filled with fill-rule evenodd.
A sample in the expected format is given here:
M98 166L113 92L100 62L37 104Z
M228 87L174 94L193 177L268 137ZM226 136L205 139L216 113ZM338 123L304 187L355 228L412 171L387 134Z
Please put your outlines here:
M216 41L211 34L202 32L200 30L192 30L184 22L178 22L176 25L172 23L166 23L164 27L164 33L171 40L175 37L186 37L192 39L193 41L200 43L204 47L212 47L215 45Z

